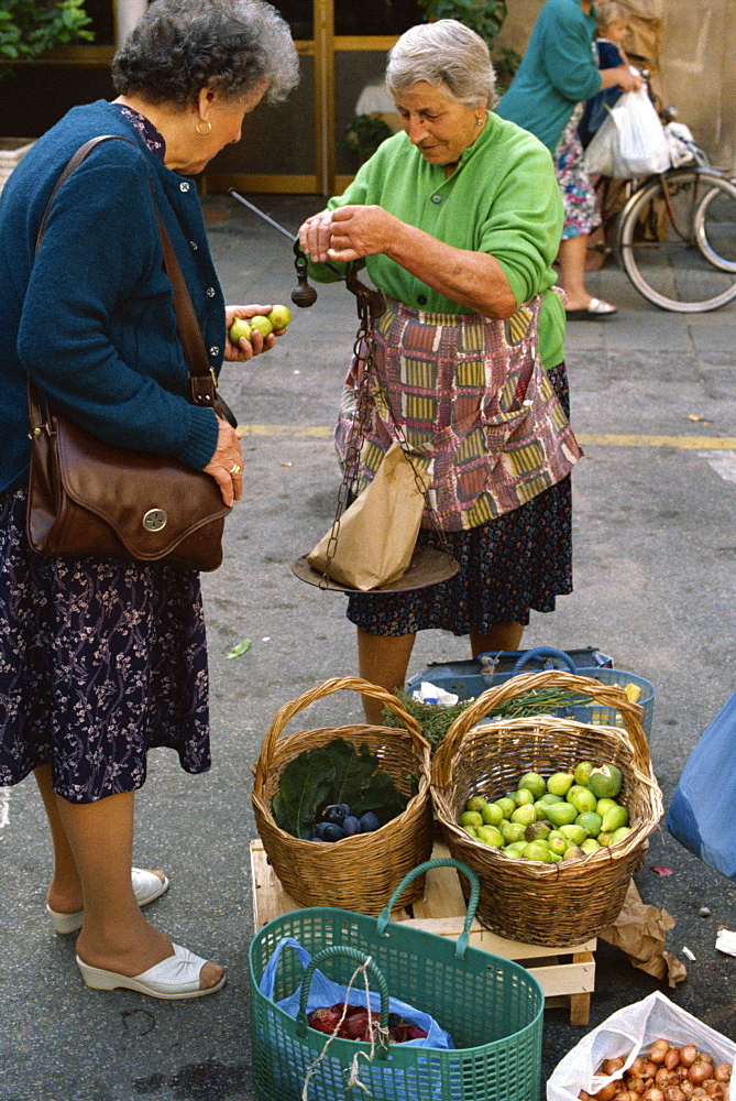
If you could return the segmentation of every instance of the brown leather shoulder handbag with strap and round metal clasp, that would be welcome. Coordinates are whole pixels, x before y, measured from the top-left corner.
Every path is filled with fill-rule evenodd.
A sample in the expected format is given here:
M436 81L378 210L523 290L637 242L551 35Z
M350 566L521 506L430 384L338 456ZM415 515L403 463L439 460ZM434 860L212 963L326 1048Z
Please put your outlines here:
M128 141L114 134L95 138L72 157L48 199L36 250L58 188L96 145L116 138ZM218 397L189 292L157 209L156 218L191 374L191 400L213 408L234 426L232 413ZM42 402L31 380L29 414L26 527L34 550L61 558L94 556L218 568L224 517L231 510L213 478L168 456L102 443Z

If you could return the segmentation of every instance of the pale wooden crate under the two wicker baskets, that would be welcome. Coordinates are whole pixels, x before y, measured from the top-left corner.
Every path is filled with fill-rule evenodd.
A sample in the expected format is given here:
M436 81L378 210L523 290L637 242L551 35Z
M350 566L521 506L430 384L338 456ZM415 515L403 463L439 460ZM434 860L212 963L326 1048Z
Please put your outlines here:
M432 857L447 855L447 848L437 842ZM274 917L301 908L282 886L260 839L251 841L251 875L256 928ZM424 900L414 904L411 913L399 908L392 914L395 922L405 922L413 928L453 940L462 933L464 916L465 901L454 868L437 868L429 872ZM473 948L521 963L539 982L548 1009L569 1005L570 1024L589 1023L595 984L595 937L571 948L543 948L497 937L475 919L470 928L470 942Z

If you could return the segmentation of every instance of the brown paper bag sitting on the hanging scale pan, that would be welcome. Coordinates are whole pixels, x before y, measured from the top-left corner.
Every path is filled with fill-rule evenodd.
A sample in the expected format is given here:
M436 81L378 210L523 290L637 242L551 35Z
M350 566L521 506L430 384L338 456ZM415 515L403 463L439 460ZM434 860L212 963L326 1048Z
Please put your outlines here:
M429 476L417 473L428 486ZM424 508L411 464L400 445L392 444L371 484L340 517L330 580L362 591L397 581L411 560ZM327 566L330 535L331 531L307 555L319 573Z

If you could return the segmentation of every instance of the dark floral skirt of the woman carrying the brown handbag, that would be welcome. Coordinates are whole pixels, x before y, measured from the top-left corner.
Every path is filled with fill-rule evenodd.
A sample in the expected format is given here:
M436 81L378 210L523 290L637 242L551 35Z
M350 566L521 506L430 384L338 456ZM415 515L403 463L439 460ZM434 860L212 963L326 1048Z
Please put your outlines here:
M25 536L25 490L0 492L0 785L50 763L70 803L141 787L146 752L210 766L196 573L47 558Z

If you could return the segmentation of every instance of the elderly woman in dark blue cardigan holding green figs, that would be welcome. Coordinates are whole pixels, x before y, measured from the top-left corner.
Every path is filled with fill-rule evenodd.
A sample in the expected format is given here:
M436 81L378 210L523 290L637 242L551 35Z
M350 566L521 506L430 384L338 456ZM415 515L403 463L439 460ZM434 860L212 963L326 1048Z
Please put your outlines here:
M88 986L155 998L219 990L224 969L172 944L140 907L168 886L132 869L134 793L152 746L209 768L207 648L198 575L158 563L48 558L25 536L31 377L103 443L171 455L241 495L239 435L188 400L189 371L163 265L155 204L211 369L235 347L195 174L240 138L244 116L296 83L287 24L261 0L155 0L113 61L112 102L74 108L0 198L0 784L34 773L54 847L46 896L79 930ZM56 194L64 166L98 145Z

